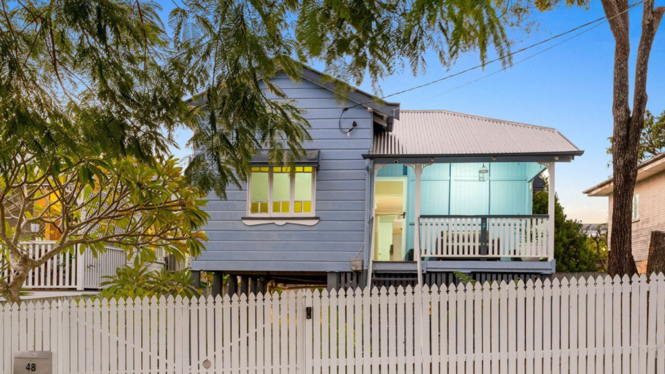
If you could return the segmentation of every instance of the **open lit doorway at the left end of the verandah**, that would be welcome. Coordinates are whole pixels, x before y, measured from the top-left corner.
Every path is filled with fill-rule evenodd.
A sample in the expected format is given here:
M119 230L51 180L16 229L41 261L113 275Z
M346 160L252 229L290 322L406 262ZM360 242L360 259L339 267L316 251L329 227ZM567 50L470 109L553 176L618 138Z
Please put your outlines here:
M374 259L402 261L405 258L407 178L376 179L374 194Z

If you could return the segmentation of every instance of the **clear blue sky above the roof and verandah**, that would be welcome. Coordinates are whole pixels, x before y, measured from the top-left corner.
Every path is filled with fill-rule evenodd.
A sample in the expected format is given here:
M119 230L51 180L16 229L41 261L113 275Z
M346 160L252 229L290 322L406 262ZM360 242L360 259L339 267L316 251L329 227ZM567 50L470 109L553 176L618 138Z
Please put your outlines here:
M665 4L657 1L657 5ZM163 19L166 19L172 3L165 1L163 7ZM639 42L641 11L641 6L630 11L633 63ZM560 8L553 12L539 13L534 18L540 24L538 30L529 35L513 33L516 41L513 50L547 39L551 35L580 26L603 15L599 0L592 1L588 10ZM665 110L665 30L663 28L665 26L661 27L656 37L648 73L648 109L655 113ZM558 41L559 39L515 55L515 62ZM582 191L607 179L611 174L611 170L607 168L610 157L605 154L605 148L608 146L608 136L612 135L613 55L614 39L608 24L605 23L526 62L460 89L445 93L461 84L492 73L501 66L493 64L487 66L485 71L465 73L423 89L394 96L389 100L400 102L402 109L446 109L556 127L578 148L585 150L582 157L578 157L572 163L560 163L556 169L556 192L567 215L587 223L607 222L608 199L586 197ZM381 82L383 93L391 94L429 82L468 69L479 62L475 53L461 56L450 69L441 67L434 56L427 61L429 68L424 75L414 78L406 71ZM312 66L321 70L325 67L321 64L312 64ZM371 91L369 82L362 84L361 88ZM188 136L188 132L181 132L177 140L184 145ZM176 154L181 157L188 154L188 151L182 149Z

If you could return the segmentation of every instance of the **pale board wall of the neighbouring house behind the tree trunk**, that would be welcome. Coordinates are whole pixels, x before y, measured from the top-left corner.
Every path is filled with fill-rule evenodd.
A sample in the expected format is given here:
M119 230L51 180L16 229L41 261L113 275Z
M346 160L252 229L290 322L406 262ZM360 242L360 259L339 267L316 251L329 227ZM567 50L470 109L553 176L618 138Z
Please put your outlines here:
M665 231L665 172L637 182L639 218L632 222L632 256L647 260L651 231ZM612 232L612 195L609 197L608 238Z

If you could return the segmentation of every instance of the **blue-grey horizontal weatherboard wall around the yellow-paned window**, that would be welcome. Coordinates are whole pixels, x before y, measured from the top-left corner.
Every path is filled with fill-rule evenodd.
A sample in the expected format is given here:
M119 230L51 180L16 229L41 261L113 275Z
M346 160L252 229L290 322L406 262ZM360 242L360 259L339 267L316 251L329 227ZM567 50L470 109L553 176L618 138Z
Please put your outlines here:
M366 239L366 162L372 141L372 114L365 107L348 109L342 126L357 127L346 136L338 121L346 105L313 82L295 82L286 75L272 80L310 123L311 141L303 148L320 150L316 177L314 226L260 224L247 226L247 186L229 186L227 200L208 197L211 215L205 228L206 251L193 269L208 271L348 271ZM352 103L355 104L355 103Z

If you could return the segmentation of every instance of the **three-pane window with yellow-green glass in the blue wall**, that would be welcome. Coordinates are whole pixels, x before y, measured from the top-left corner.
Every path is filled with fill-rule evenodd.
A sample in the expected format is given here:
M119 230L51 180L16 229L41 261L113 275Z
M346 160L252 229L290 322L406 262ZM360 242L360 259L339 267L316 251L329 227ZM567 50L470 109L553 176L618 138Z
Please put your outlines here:
M315 184L313 166L252 166L247 213L256 217L313 216Z

